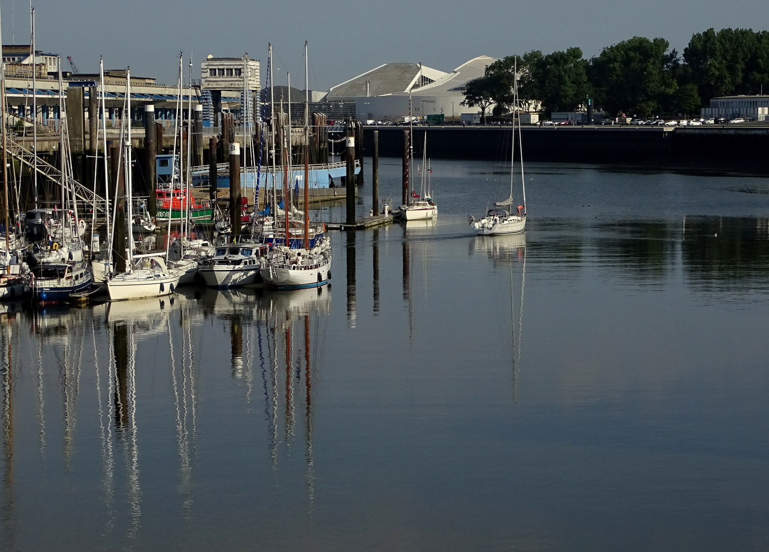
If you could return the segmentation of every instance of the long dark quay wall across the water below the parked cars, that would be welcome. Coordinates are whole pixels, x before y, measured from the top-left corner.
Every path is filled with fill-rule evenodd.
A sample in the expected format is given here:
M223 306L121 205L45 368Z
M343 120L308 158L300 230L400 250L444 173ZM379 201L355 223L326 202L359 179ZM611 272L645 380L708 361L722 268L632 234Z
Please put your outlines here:
M365 155L371 155L372 131L379 131L379 155L400 157L403 126L365 127ZM420 158L424 135L428 157L509 159L510 126L414 126L414 158ZM518 132L516 131L516 134ZM701 127L523 127L524 160L587 163L687 163L694 165L767 165L769 125ZM515 138L518 158L518 137Z

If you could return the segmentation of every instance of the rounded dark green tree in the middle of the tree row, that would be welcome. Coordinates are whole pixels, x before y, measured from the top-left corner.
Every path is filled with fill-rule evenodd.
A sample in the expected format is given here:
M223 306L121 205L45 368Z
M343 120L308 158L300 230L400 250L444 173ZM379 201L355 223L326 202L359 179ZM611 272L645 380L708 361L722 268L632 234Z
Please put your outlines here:
M677 54L669 46L664 38L635 36L604 48L590 62L595 104L610 114L657 114L677 90Z

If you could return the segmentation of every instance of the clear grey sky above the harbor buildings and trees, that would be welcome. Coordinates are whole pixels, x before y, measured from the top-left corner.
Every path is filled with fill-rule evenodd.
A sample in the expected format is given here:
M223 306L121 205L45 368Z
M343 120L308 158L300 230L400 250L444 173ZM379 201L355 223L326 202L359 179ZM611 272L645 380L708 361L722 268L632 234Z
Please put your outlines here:
M0 0L3 43L29 40L28 0ZM423 62L443 71L476 55L579 46L586 57L634 35L661 36L683 52L692 33L714 27L769 28L767 0L37 0L38 49L71 55L82 71L131 66L135 75L175 82L178 53L248 52L267 61L275 48L275 84L328 89L386 62ZM65 65L66 67L67 65ZM264 76L262 77L264 84Z

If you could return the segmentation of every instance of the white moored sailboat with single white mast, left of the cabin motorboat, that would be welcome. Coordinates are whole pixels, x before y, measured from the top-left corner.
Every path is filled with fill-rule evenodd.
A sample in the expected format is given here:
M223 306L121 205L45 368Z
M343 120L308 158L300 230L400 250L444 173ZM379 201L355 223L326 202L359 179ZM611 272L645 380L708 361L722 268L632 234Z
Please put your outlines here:
M126 117L130 121L131 113L131 70L128 69L125 74L125 101ZM165 266L165 259L159 254L141 254L134 255L134 237L131 232L131 222L133 221L133 178L131 177L131 124L126 125L128 129L128 138L123 145L125 153L123 155L123 170L125 171L125 205L128 208L126 213L126 234L128 235L128 258L126 258L126 271L115 274L107 280L107 291L111 301L120 301L123 299L141 299L149 297L160 297L174 292L179 284L179 275L172 274Z

